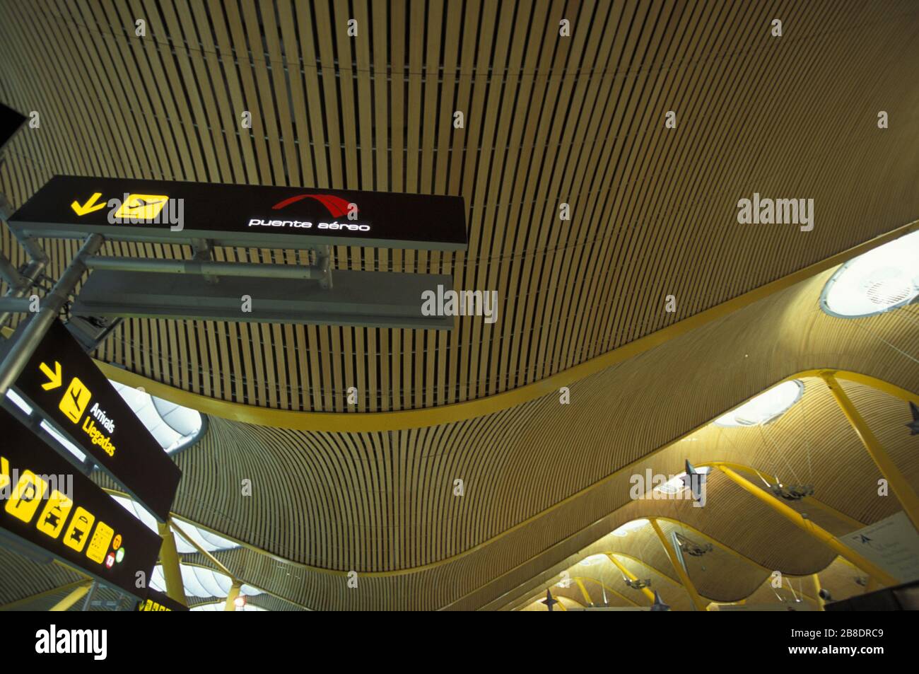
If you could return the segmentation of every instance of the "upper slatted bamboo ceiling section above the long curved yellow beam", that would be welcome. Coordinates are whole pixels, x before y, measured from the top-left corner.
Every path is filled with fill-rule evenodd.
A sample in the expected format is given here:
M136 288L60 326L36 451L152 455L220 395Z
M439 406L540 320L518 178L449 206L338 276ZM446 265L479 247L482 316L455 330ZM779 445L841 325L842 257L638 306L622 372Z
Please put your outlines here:
M355 411L349 386L357 411L455 403L912 220L915 13L908 0L4 3L0 97L42 124L11 144L0 186L15 204L54 173L461 195L468 253L340 246L335 267L452 272L459 288L499 291L494 325L134 320L101 352L250 405ZM894 120L884 132L879 109ZM813 198L814 231L739 225L735 204L754 191ZM54 251L56 270L73 250Z

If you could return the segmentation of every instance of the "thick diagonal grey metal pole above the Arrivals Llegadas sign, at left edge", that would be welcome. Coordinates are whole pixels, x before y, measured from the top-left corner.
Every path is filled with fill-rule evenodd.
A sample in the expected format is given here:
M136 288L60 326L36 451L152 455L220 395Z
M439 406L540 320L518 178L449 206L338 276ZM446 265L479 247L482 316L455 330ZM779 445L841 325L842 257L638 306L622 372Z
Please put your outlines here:
M29 319L21 334L14 335L16 342L7 352L3 362L0 363L0 398L5 397L6 392L16 383L17 378L26 368L28 359L32 357L35 349L38 348L42 337L48 332L51 324L57 320L61 307L67 302L71 291L83 278L86 270L85 258L95 255L99 247L102 246L103 241L101 234L90 234L86 237L86 241L76 254L76 257L64 269L61 279L54 284L51 292L41 301L39 313Z

